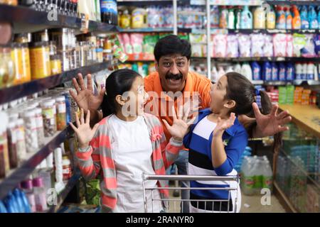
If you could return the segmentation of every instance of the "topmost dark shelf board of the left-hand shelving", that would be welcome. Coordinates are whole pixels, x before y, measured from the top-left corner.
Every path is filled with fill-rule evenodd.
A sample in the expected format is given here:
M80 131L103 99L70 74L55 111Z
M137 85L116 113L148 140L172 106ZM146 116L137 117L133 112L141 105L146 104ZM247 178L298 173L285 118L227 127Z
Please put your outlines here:
M14 33L32 33L47 28L75 28L80 30L81 18L58 14L56 21L48 20L48 13L36 11L24 6L8 6L0 4L0 21L8 21L14 25ZM117 26L90 21L89 31L101 33L117 33Z

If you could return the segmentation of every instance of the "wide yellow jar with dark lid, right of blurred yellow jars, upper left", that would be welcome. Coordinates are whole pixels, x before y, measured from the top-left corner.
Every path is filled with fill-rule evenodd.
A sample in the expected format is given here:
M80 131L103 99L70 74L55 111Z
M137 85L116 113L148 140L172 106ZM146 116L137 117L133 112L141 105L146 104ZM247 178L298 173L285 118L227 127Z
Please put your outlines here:
M32 79L41 79L51 75L48 42L38 42L31 45L30 62Z

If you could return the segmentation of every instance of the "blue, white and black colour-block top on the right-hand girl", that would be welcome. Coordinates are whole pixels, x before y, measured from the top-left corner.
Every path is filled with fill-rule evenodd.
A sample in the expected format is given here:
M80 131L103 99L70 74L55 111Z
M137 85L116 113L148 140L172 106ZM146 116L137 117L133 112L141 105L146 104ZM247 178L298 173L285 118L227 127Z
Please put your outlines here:
M223 133L223 141L227 143L225 145L225 153L227 160L223 162L220 167L213 167L212 155L211 155L211 142L213 138L213 130L216 126L215 123L209 121L207 116L212 112L210 109L204 109L199 112L197 121L191 126L191 130L183 139L183 145L189 149L188 160L188 175L210 175L210 176L224 176L224 175L237 175L238 172L234 170L242 152L247 146L247 132L245 128L240 124L238 118L235 119L233 126L228 128ZM225 188L234 187L236 182L223 182L223 181L191 181L192 187L208 188ZM191 189L190 199L203 200L203 199L223 199L223 206L220 207L220 203L215 204L196 204L191 201L191 205L206 210L233 210L232 203L228 206L229 201L233 200L235 195L230 195L228 190L196 190Z

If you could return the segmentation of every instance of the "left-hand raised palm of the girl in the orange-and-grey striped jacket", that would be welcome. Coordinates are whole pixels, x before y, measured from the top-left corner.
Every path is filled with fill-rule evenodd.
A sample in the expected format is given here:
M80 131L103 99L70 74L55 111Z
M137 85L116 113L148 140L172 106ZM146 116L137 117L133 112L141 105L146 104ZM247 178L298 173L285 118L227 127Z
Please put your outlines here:
M89 146L90 141L99 127L99 123L96 123L93 128L90 127L90 110L87 111L86 118L84 115L83 109L81 109L80 120L78 114L75 114L75 123L77 127L70 122L70 126L78 137L79 148L87 148Z

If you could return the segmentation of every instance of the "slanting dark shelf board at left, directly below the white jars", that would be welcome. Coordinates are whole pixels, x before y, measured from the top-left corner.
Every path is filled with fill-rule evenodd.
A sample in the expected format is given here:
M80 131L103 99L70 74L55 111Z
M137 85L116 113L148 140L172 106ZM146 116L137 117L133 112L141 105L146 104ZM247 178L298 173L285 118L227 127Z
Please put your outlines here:
M44 160L50 153L58 148L65 138L72 133L72 128L68 126L65 130L58 132L53 138L50 138L48 143L46 143L43 148L38 150L38 152L31 154L31 157L23 162L23 164L13 170L6 178L0 182L0 200L8 194L9 191L18 186L18 184L26 179L33 170Z

